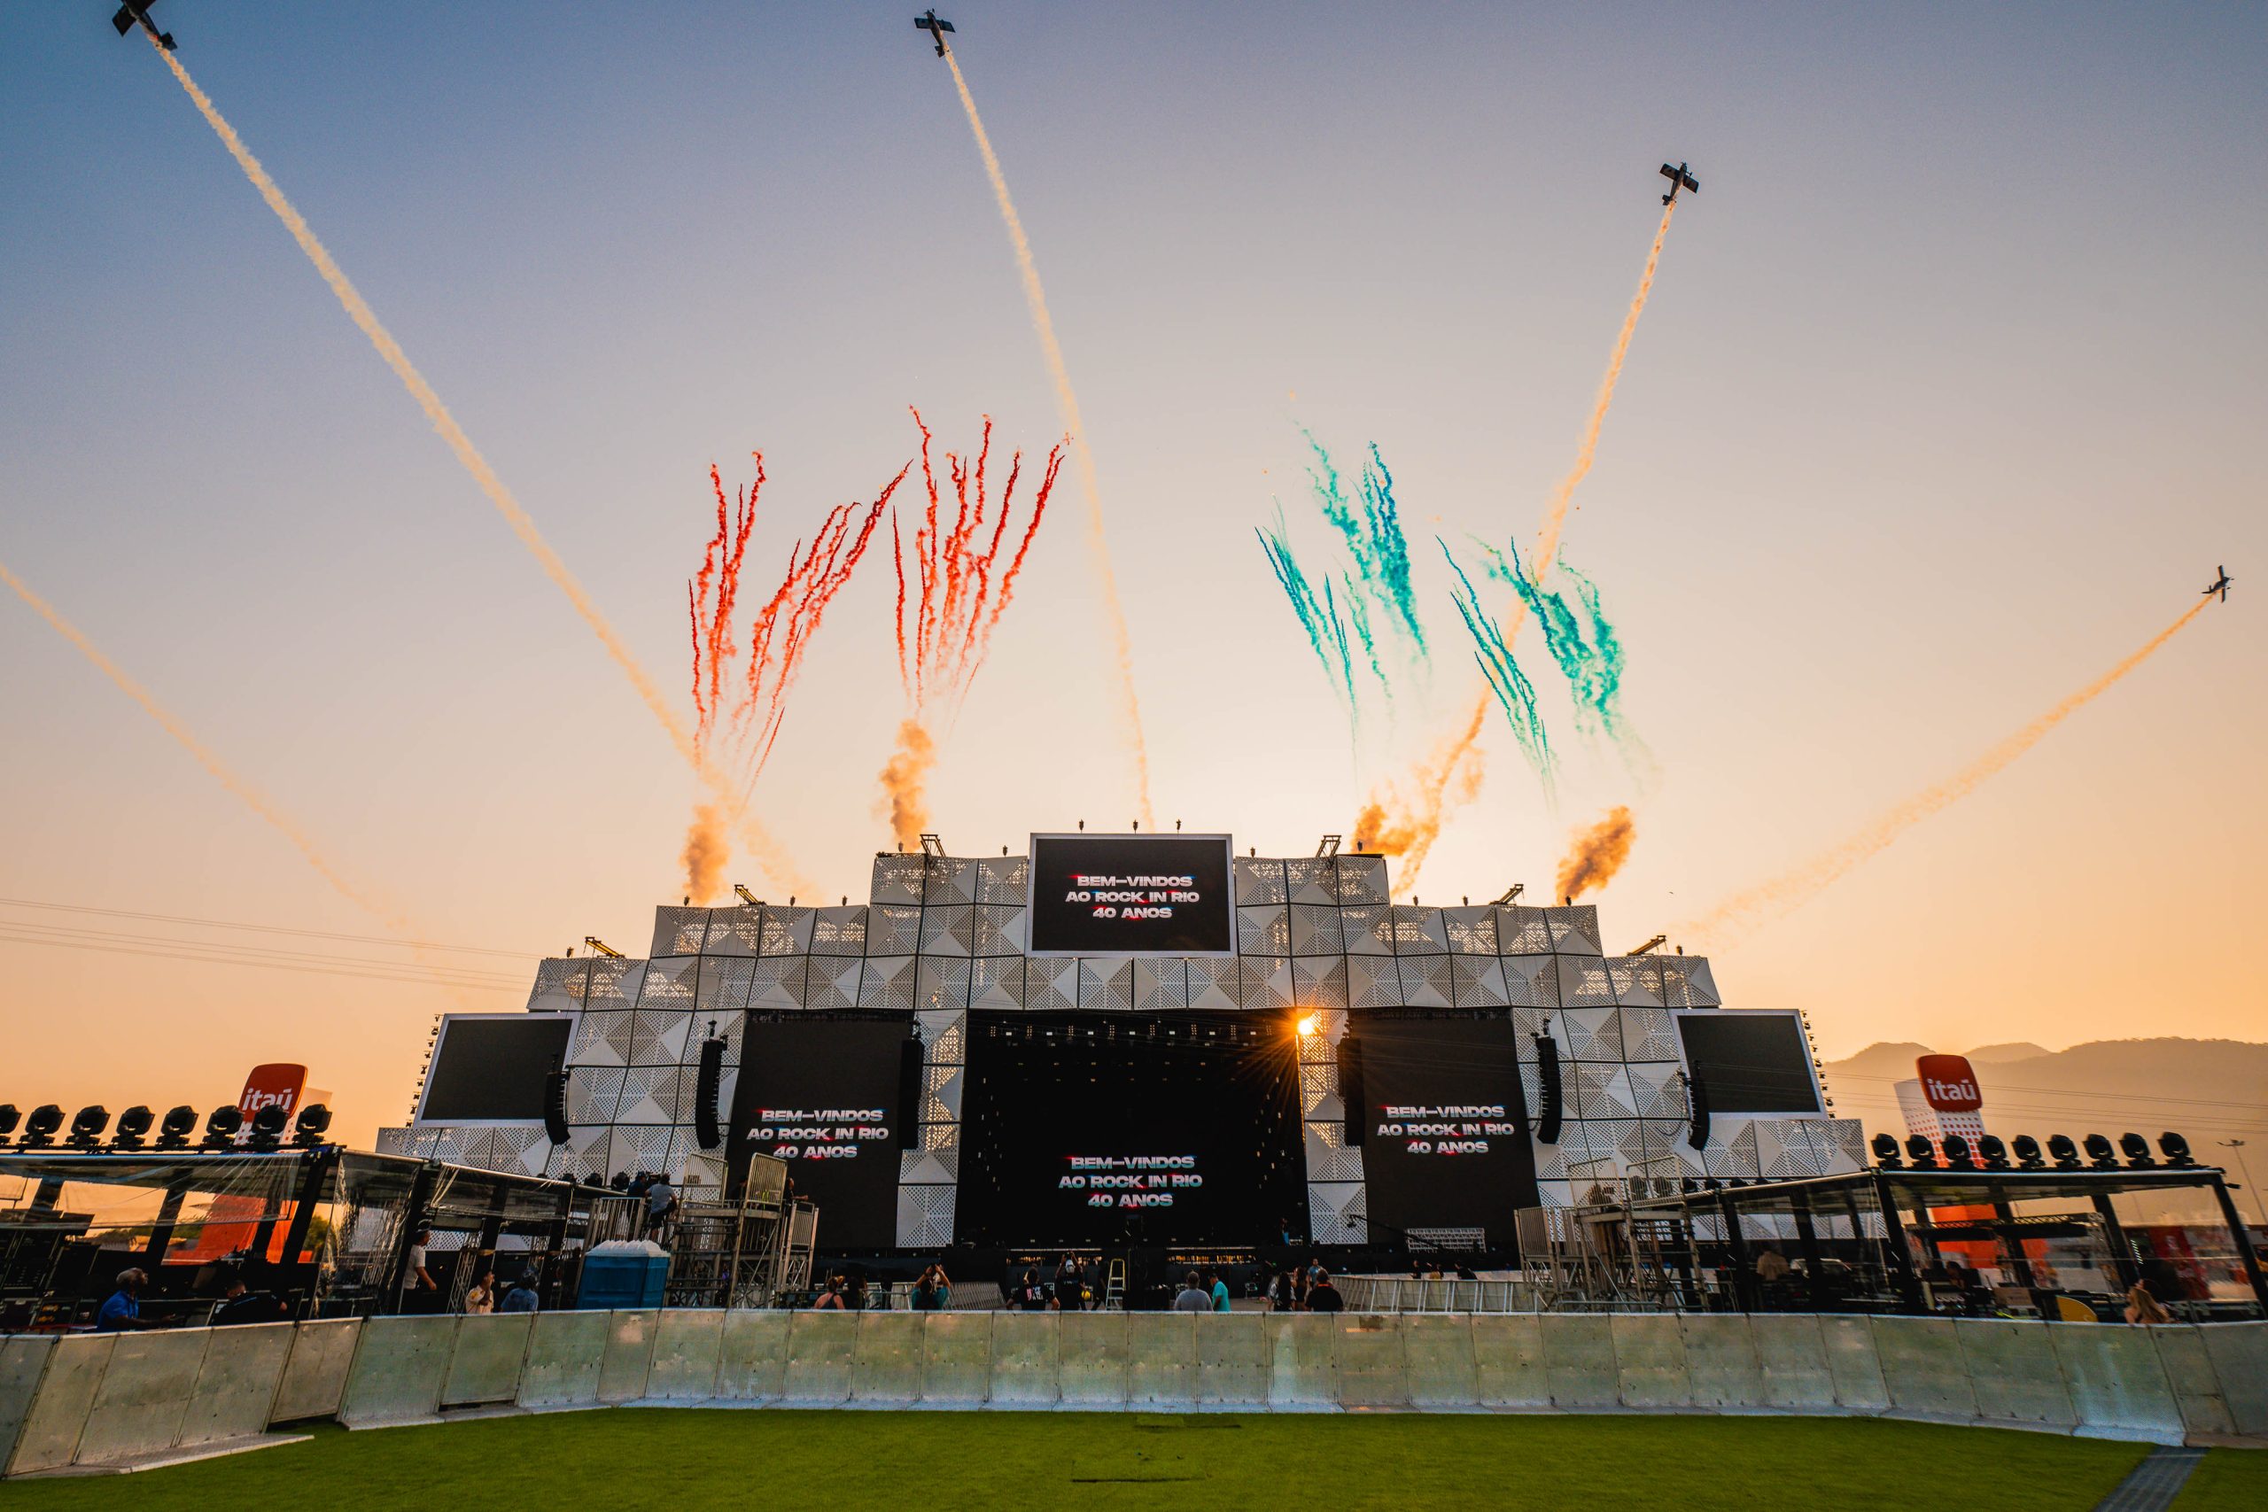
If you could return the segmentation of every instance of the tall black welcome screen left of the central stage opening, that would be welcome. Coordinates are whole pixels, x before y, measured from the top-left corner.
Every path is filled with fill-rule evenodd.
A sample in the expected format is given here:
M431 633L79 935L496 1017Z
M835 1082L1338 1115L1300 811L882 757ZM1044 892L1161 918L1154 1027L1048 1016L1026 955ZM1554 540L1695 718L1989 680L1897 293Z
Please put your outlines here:
M780 1156L798 1197L819 1204L819 1247L898 1242L898 1061L912 1013L751 1013L733 1084L726 1156Z

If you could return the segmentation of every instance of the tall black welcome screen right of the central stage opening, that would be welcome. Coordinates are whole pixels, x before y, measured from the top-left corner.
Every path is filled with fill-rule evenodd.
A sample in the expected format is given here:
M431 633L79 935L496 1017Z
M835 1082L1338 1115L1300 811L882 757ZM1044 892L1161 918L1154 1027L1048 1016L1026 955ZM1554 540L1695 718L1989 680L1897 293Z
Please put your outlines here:
M1486 1229L1510 1247L1513 1213L1540 1201L1520 1090L1520 1034L1504 1013L1352 1013L1363 1063L1370 1238Z

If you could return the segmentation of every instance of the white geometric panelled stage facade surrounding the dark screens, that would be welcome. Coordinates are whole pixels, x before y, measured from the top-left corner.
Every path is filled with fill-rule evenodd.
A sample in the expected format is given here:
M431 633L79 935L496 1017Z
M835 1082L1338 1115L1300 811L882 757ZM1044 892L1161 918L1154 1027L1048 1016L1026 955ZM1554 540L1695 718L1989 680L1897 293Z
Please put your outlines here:
M1027 857L880 855L871 900L655 911L644 961L549 959L528 1013L569 1016L569 1140L542 1124L411 1122L379 1149L551 1177L660 1170L685 1190L723 1186L723 1147L694 1136L701 1040L726 1040L733 1106L746 1011L912 1011L925 1043L919 1147L900 1152L898 1245L953 1242L962 1065L971 1009L1318 1011L1300 1095L1315 1242L1368 1242L1363 1152L1343 1143L1334 1045L1347 1009L1472 1009L1515 1022L1526 1104L1535 1034L1558 1045L1563 1127L1535 1143L1547 1206L1617 1177L1774 1179L1860 1170L1857 1120L1717 1113L1687 1145L1676 1009L1721 1006L1703 957L1608 957L1594 907L1388 902L1386 857L1236 857L1234 957L1027 957ZM417 1106L413 1102L413 1106Z

